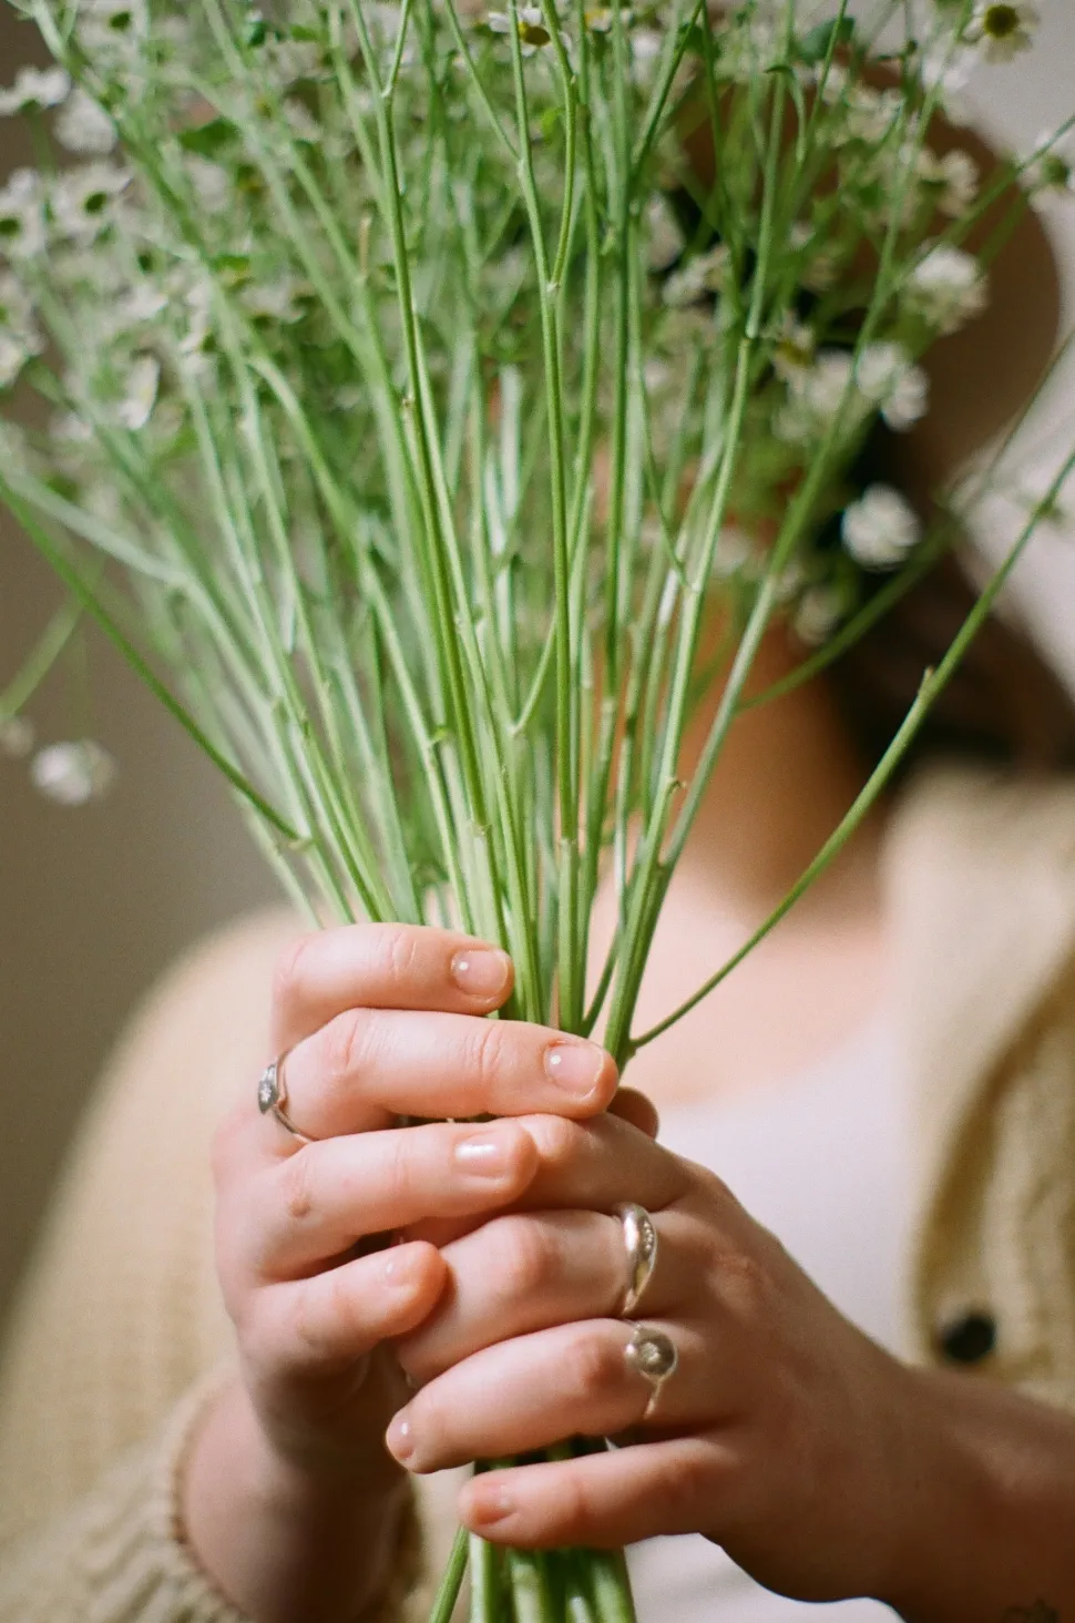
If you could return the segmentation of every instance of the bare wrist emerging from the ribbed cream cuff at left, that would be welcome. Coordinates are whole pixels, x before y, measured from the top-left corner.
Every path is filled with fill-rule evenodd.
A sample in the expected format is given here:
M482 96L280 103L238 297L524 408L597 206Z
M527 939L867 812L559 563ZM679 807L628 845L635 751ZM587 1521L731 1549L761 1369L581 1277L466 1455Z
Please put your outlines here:
M191 1448L183 1535L253 1623L362 1623L391 1581L409 1492L388 1454L349 1472L281 1457L237 1380Z

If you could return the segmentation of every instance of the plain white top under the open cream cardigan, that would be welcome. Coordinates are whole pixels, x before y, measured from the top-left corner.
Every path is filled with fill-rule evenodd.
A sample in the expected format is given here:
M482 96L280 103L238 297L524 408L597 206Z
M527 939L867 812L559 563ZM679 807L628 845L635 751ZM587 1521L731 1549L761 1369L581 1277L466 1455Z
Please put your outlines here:
M905 1355L910 1099L879 1014L819 1063L741 1097L662 1110L662 1143L718 1173L825 1295ZM874 1600L804 1605L762 1589L700 1537L629 1553L639 1623L892 1623Z

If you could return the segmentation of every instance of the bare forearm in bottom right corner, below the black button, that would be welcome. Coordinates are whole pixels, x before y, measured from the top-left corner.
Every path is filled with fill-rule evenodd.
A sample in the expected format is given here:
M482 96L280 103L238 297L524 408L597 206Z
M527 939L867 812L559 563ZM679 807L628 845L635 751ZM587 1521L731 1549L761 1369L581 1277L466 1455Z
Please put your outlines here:
M918 1469L887 1600L906 1623L1075 1623L1075 1419L914 1371Z

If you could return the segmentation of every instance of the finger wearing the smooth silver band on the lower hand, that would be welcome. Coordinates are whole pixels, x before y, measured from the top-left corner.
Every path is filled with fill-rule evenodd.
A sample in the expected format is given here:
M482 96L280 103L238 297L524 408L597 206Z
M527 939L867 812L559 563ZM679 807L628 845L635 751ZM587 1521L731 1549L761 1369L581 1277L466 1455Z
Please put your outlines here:
M637 1315L671 1316L697 1295L704 1259L689 1219L655 1219L657 1266ZM441 1251L451 1276L435 1315L397 1345L415 1383L426 1383L483 1347L572 1324L616 1316L629 1284L618 1217L567 1211L493 1217ZM637 1316L636 1315L636 1316Z

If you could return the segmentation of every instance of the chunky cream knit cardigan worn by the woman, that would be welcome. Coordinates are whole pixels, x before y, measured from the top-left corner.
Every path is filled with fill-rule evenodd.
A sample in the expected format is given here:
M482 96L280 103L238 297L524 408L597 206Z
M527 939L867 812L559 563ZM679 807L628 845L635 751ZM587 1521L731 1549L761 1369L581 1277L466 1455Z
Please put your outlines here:
M987 1311L979 1373L1075 1409L1075 787L934 774L893 815L885 872L921 1123L919 1354ZM0 1623L242 1623L183 1545L175 1487L230 1358L208 1146L253 1096L298 928L271 912L190 953L94 1094L0 1370ZM420 1493L433 1569L446 1479ZM418 1584L391 1610L425 1607Z

